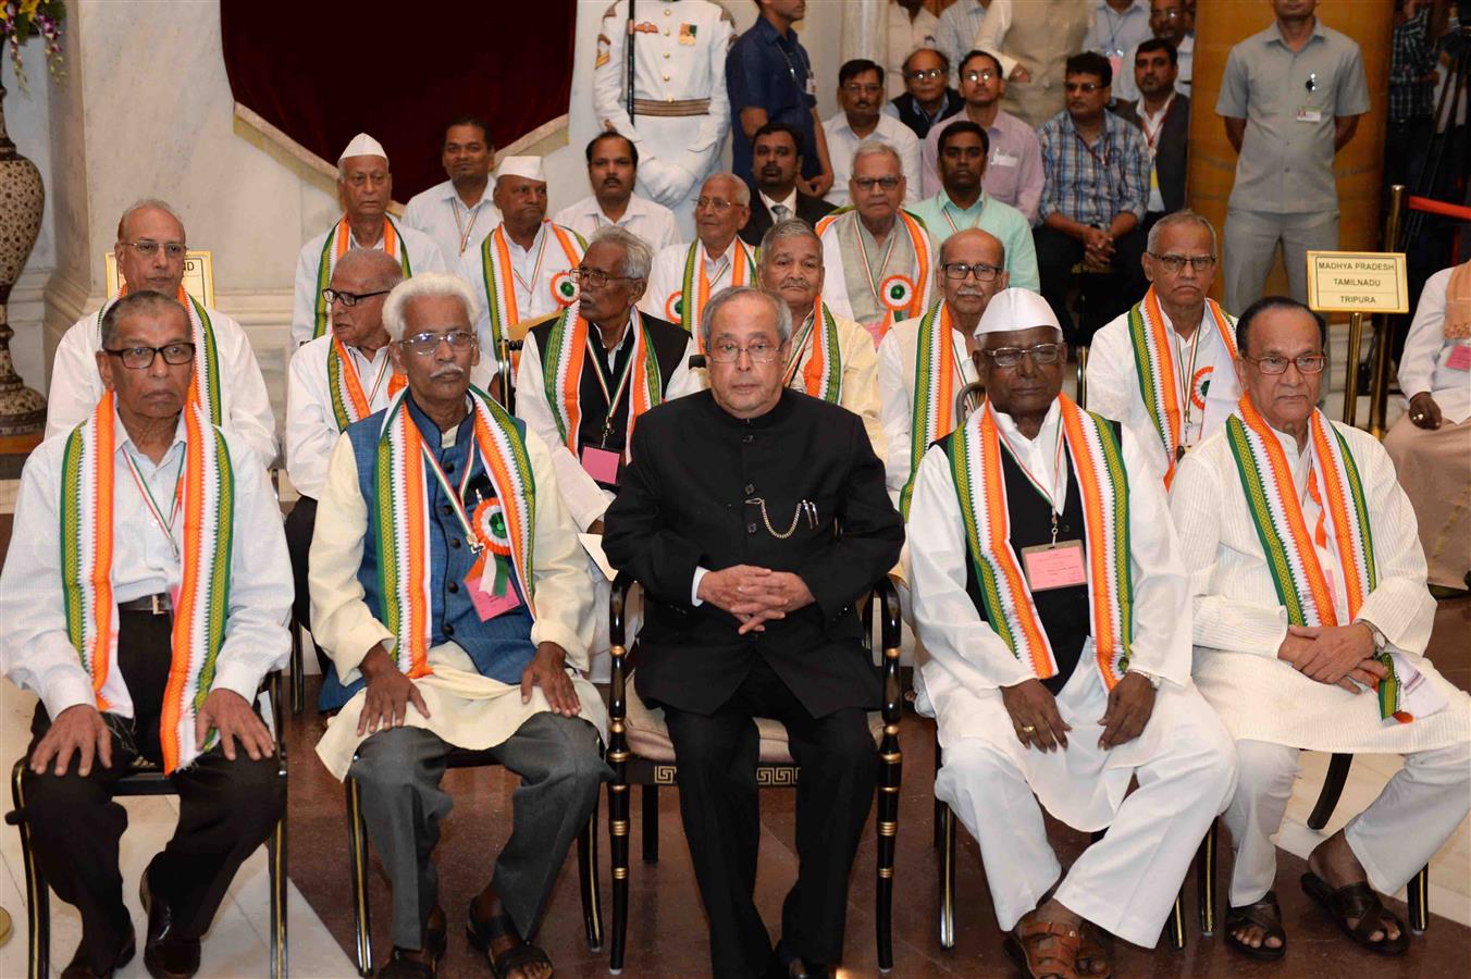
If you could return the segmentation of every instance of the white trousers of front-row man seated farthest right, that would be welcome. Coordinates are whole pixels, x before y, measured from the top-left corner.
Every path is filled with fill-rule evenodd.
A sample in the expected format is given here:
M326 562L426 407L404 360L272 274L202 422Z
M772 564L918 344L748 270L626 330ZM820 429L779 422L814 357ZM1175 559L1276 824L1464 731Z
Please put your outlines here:
M1268 741L1237 741L1237 786L1225 810L1236 847L1231 907L1253 904L1272 889L1277 847L1297 779L1299 748ZM1344 829L1349 848L1380 894L1403 888L1471 810L1471 744L1405 756L1378 798Z

